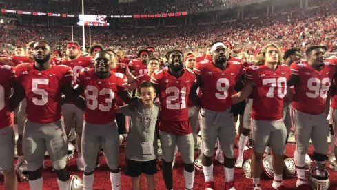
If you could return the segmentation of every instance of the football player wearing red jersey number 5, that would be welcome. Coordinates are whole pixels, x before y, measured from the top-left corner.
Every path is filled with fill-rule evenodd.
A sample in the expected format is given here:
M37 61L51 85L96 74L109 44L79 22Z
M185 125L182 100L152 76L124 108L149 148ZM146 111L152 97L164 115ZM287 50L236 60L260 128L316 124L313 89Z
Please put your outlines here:
M61 120L62 93L76 102L79 98L72 88L72 69L50 64L50 44L40 40L34 44L35 64L15 67L17 87L11 97L10 110L27 99L23 153L28 162L30 189L42 189L42 167L48 151L57 173L59 189L70 189L67 169L67 137Z

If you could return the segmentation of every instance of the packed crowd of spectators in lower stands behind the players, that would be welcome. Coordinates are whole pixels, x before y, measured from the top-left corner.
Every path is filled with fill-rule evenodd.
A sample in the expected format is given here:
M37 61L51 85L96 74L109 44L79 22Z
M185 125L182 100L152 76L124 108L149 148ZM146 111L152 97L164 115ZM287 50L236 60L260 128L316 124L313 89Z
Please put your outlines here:
M261 48L270 42L283 48L297 47L305 50L312 44L325 44L329 51L337 46L337 5L325 1L324 6L313 10L289 9L274 15L254 15L258 18L224 23L209 23L202 26L178 26L174 28L134 28L94 29L91 44L101 43L106 47L127 47L130 55L135 55L141 46L154 46L159 55L178 48L183 51L205 52L205 46L212 41L229 39L234 52L248 52ZM77 35L76 35L77 34ZM70 28L30 28L17 27L16 30L0 30L2 43L24 45L28 41L45 37L55 48L71 41ZM82 42L81 29L75 29L74 40ZM85 35L89 46L88 31ZM62 47L62 46L61 46Z

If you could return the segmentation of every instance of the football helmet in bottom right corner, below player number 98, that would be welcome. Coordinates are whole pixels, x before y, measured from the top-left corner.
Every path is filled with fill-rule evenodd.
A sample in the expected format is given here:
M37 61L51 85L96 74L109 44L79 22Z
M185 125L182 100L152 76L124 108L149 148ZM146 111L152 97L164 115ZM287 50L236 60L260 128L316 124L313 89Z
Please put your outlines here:
M330 186L329 172L322 164L315 164L309 171L309 184L312 189L327 190Z

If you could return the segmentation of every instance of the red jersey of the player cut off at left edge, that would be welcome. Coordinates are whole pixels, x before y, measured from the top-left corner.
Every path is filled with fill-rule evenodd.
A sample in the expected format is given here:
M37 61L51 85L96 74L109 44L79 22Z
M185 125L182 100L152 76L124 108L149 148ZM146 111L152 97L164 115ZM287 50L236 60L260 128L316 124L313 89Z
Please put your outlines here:
M0 66L0 129L12 124L9 105L10 90L14 81L14 67Z

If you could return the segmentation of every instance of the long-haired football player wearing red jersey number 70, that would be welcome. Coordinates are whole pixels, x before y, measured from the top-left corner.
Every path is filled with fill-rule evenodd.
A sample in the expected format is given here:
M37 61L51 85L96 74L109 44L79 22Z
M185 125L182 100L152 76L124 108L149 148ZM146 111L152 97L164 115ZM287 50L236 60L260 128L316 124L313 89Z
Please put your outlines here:
M283 185L285 140L287 129L283 123L283 99L287 93L287 81L291 71L281 64L280 48L267 44L257 60L257 65L245 71L243 90L232 95L233 103L253 96L252 106L252 178L254 189L261 189L261 162L267 144L273 151L274 189L286 189ZM273 105L273 106L271 106Z

